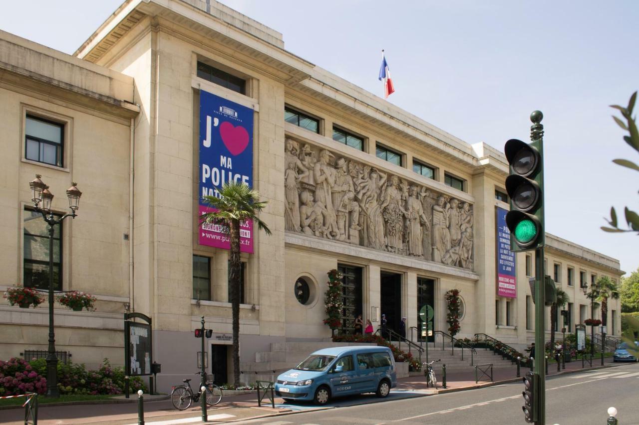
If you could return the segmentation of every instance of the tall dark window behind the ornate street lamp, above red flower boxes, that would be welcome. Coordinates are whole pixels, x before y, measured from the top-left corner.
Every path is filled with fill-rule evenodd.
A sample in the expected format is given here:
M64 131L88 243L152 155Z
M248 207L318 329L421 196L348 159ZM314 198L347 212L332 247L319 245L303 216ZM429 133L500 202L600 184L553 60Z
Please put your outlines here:
M54 214L55 218L60 218ZM54 226L53 288L62 290L62 224ZM49 225L42 214L24 210L24 286L49 289Z

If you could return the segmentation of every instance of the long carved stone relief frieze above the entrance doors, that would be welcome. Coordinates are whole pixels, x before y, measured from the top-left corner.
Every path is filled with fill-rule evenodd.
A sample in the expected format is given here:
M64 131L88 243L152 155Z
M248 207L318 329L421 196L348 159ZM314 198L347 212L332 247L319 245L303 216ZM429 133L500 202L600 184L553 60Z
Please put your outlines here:
M286 230L473 268L468 202L286 139Z

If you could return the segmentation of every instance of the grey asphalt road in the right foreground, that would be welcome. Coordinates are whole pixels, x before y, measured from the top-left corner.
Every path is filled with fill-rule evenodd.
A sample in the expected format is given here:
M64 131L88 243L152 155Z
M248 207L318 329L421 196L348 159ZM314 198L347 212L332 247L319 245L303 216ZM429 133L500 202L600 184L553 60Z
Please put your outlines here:
M243 424L525 424L523 384L256 419ZM639 364L546 380L546 424L606 424L615 406L620 425L639 424Z

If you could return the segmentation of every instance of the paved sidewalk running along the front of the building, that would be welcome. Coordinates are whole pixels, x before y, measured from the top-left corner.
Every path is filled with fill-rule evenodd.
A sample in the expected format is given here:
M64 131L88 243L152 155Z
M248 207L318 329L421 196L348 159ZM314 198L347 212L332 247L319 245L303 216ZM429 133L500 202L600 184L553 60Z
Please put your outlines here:
M605 359L605 361L604 367L613 365L612 358ZM586 366L588 366L588 364L586 364ZM592 366L593 369L601 368L600 359L593 359ZM566 363L566 369L562 369L560 372L557 372L557 364L549 364L548 376L587 369L590 368L581 368L581 360ZM521 376L523 377L528 371L530 371L529 368L521 368ZM447 374L446 389L443 389L441 386L441 384L443 384L443 377L438 376L437 378L439 382L438 390L436 391L434 389L426 389L424 375L401 378L397 380L397 388L391 392L390 398L398 399L442 394L445 392L463 391L521 380L521 378L516 377L516 366L507 369L494 369L493 382L487 381L486 377L484 377L484 380L475 383L475 371L470 368L468 371ZM150 398L153 396L146 395L145 397ZM137 399L137 396L132 396L132 398ZM224 396L222 403L215 407L208 408L208 421L218 423L245 421L259 417L291 414L299 411L309 412L316 409L375 403L378 401L383 401L383 399L376 398L374 394L366 394L335 399L335 402L331 403L330 406L318 407L311 403L285 404L284 400L275 398L275 408L272 408L270 403L263 403L262 406L259 407L257 394ZM158 401L147 400L144 403L144 421L147 425L203 423L200 421L200 415L201 408L199 405L192 406L187 410L178 411L173 408L170 399ZM41 425L76 425L88 423L98 423L100 425L135 425L137 424L137 403L40 405L38 422ZM22 408L0 410L0 423L8 425L24 424L24 410L22 410Z

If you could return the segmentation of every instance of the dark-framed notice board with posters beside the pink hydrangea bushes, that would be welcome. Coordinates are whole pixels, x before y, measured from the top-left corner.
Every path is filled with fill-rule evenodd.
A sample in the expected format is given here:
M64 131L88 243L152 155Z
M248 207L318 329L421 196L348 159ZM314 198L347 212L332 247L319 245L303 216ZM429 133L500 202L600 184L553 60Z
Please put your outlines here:
M151 318L142 313L125 313L124 315L124 350L125 375L130 377L151 375L153 363L153 336ZM142 322L132 322L139 318Z

